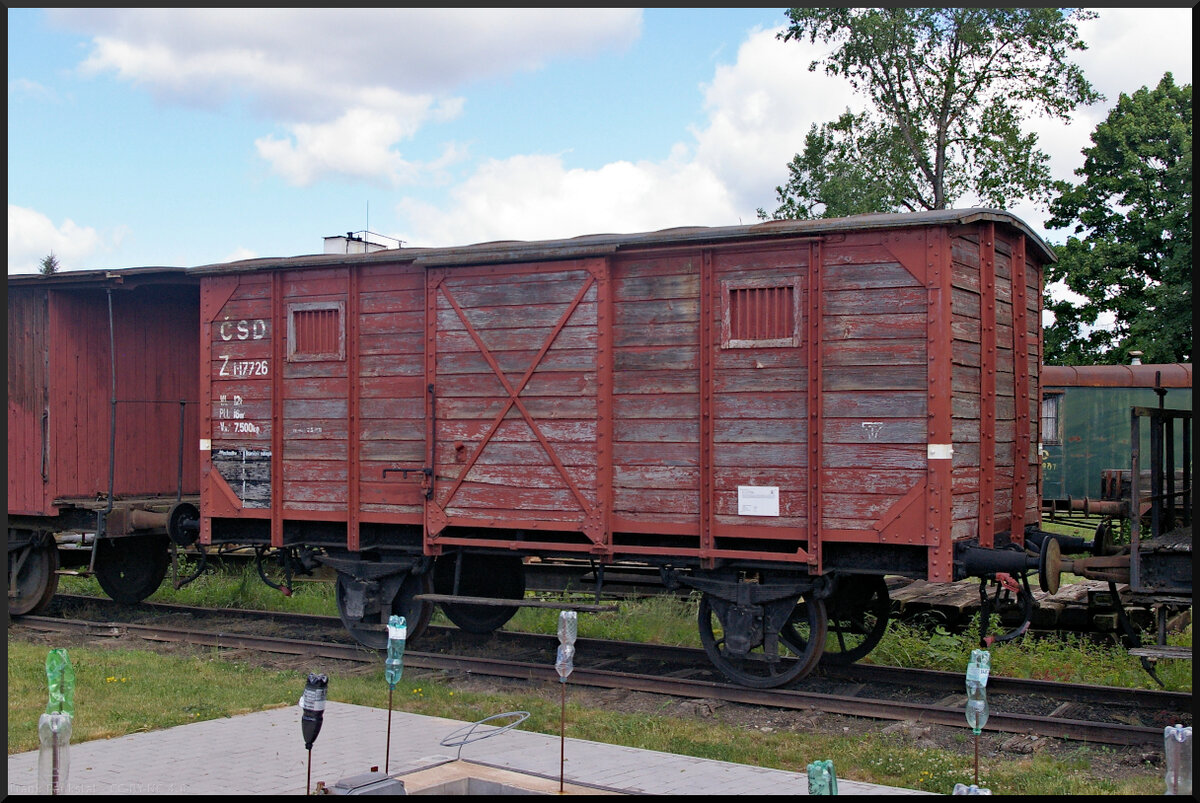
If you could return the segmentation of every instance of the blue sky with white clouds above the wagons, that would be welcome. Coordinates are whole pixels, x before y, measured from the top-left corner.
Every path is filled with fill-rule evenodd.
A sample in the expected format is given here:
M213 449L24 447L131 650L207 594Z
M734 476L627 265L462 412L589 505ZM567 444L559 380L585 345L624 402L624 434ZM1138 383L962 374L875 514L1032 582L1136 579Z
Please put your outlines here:
M8 10L8 272L738 226L862 108L782 8ZM1122 92L1192 83L1188 6L1102 8L1105 101L1028 130L1054 178ZM971 205L968 200L956 205ZM1046 210L1012 208L1050 242ZM385 240L386 241L386 240Z

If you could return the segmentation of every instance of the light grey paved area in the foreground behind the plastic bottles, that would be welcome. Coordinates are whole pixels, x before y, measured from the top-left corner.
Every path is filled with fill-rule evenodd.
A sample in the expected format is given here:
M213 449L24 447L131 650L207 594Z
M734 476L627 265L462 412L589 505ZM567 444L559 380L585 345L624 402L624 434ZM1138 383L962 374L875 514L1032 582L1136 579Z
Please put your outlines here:
M296 706L72 744L71 795L304 795L318 783L384 768L388 712L330 702L311 756ZM386 768L431 760L479 766L632 795L808 795L804 773L637 750L508 730L461 747L442 744L469 723L392 712ZM484 729L490 726L482 726ZM559 761L563 750L564 761ZM37 751L8 756L8 793L37 791ZM311 769L310 769L311 759ZM840 795L924 795L838 779Z

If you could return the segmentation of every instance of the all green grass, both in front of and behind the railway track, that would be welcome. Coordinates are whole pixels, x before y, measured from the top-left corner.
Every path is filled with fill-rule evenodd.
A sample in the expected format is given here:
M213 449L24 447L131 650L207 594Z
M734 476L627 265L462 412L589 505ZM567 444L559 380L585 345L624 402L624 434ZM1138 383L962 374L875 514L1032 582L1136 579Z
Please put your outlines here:
M100 593L94 581L84 579L64 577L60 589ZM283 597L262 583L253 568L205 575L180 591L167 582L151 599L336 615L329 583L298 583L295 594ZM652 597L622 604L618 612L581 615L580 635L697 646L695 610L695 595ZM522 609L508 628L552 634L557 617L553 609ZM1192 628L1172 634L1170 642L1190 646ZM929 633L893 623L868 660L962 671L976 646L970 631L967 635ZM37 748L37 718L47 700L46 653L43 645L8 639L10 754ZM1118 646L1096 643L1082 636L1026 637L995 647L991 653L992 673L997 676L1157 688L1138 660ZM77 678L76 742L295 705L305 682L304 672L256 667L230 660L212 648L179 657L80 646L70 647L70 657ZM1190 691L1190 661L1163 661L1158 667L1166 687L1180 691ZM313 671L324 670L314 666ZM397 709L460 721L474 721L502 711L529 711L532 717L522 727L558 733L557 683L521 694L481 694L455 690L436 677L412 675L396 688ZM373 671L331 677L329 694L331 700L341 702L385 707L382 661ZM671 717L666 708L659 713L629 714L604 707L586 708L571 702L570 696L566 717L566 735L574 738L799 772L811 761L832 759L839 778L938 793L949 793L956 783L973 783L968 755L917 748L896 735L851 732L838 737L785 729L763 732L722 723L721 709L703 719ZM967 733L964 727L964 743ZM1097 777L1090 769L1091 762L1104 750L1081 747L1066 756L1043 753L984 756L979 783L997 795L1162 793L1160 769L1148 765L1128 767L1116 777Z

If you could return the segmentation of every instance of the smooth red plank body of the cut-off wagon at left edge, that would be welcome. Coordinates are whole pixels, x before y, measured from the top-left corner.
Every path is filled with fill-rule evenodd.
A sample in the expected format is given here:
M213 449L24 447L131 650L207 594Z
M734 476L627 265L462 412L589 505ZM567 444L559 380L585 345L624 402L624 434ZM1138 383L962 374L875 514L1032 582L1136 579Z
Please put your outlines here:
M54 515L60 502L107 496L114 352L113 493L197 492L198 298L178 274L10 287L11 514Z

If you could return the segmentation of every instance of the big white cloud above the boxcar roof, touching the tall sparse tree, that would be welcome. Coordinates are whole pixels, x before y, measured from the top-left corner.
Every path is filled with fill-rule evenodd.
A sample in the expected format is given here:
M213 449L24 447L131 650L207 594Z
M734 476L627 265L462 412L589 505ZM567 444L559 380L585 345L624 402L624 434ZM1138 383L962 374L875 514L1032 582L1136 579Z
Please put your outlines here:
M719 66L704 86L706 124L666 160L592 170L558 155L493 160L456 186L444 208L397 204L409 226L397 236L433 246L755 223L758 206L773 208L773 190L809 126L854 103L845 84L809 72L816 53L752 31L737 61Z

